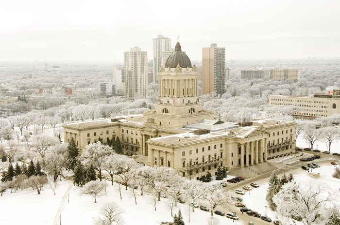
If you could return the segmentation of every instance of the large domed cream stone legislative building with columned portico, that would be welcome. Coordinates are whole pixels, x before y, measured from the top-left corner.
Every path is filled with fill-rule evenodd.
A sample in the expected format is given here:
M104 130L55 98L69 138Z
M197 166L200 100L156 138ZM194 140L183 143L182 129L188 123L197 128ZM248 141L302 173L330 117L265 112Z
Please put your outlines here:
M80 149L119 137L124 154L147 156L148 165L171 167L189 179L214 174L218 166L244 168L295 151L294 121L228 123L203 110L196 66L179 43L160 68L155 110L63 127L65 142L73 138Z

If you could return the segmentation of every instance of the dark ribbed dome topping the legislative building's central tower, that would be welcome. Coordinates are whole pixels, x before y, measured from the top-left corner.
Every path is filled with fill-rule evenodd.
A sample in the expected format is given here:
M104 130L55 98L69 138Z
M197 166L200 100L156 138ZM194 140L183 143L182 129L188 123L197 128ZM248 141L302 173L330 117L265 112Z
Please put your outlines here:
M164 68L176 68L179 64L182 68L192 68L191 61L187 54L182 52L181 45L177 42L175 46L175 51L171 53L168 60L165 62Z

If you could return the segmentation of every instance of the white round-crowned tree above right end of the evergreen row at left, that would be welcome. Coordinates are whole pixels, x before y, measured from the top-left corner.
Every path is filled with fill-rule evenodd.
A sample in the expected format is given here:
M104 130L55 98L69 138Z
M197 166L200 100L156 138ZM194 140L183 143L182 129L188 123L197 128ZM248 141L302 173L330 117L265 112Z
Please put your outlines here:
M31 148L34 152L38 153L41 158L45 157L45 154L50 151L50 148L60 144L59 139L54 136L46 134L34 135L31 137Z

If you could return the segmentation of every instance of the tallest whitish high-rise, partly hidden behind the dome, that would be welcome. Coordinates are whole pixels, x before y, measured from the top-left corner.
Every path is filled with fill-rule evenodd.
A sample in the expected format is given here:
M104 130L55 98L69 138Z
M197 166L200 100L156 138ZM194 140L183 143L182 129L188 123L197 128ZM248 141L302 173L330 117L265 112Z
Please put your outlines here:
M162 65L162 52L170 51L171 39L158 35L153 38L153 82L158 82L158 72ZM164 65L163 65L164 66Z

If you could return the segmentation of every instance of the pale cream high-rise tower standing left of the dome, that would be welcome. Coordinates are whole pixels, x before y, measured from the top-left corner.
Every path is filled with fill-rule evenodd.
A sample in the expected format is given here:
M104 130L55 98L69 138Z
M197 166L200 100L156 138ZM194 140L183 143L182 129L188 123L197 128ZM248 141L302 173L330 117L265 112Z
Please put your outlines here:
M124 53L125 96L128 100L146 98L148 87L148 53L133 47Z

